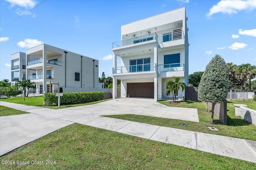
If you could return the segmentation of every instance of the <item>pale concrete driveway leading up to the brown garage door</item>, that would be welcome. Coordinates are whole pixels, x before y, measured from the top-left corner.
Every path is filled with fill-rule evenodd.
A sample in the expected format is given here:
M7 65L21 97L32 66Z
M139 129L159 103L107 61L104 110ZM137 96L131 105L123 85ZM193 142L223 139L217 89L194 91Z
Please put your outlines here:
M199 122L197 109L168 107L146 98L119 98L94 104L93 107L87 105L61 110L91 115L135 114Z

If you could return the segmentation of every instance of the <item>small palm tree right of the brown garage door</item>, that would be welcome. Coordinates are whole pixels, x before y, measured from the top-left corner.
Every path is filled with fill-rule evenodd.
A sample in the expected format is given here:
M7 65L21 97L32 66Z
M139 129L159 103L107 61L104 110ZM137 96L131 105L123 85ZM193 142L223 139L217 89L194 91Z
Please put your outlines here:
M182 88L182 92L184 91L186 84L184 82L180 82L180 78L173 76L173 80L169 80L165 82L165 85L167 86L166 91L172 93L172 102L175 102L176 100L176 94L180 90L180 87Z

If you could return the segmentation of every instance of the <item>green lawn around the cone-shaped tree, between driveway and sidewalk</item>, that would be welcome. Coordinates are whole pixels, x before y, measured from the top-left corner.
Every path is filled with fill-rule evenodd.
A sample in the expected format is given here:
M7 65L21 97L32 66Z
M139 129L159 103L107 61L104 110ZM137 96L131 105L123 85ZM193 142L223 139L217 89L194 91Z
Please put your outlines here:
M232 101L233 102L233 101ZM178 129L185 129L190 131L197 131L203 133L211 133L215 135L222 135L228 137L236 137L241 139L249 139L256 141L256 127L247 121L241 119L241 117L235 116L235 109L234 107L230 106L233 105L232 102L228 102L228 117L227 117L227 125L222 125L218 118L214 116L214 125L210 124L211 120L211 113L210 108L208 112L206 112L206 104L201 102L193 102L193 101L184 101L180 102L180 104L170 105L168 101L159 101L159 103L164 104L166 106L173 106L173 107L190 107L198 109L198 117L199 122L193 121L184 121L178 119L166 119L161 117L150 117L150 116L143 116L143 115L110 115L106 117L112 117L116 119L124 119L130 121L136 121L141 123L148 123L152 125L159 125L165 127L173 127ZM256 105L255 101L243 101L243 104L248 104L248 106ZM188 123L188 126L183 127L180 126L180 123ZM219 131L211 131L208 127L216 127Z

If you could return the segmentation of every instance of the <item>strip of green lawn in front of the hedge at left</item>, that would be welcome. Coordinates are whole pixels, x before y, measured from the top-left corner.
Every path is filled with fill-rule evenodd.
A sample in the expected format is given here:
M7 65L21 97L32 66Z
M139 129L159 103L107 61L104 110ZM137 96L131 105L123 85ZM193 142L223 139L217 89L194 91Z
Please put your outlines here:
M60 105L58 106L43 106L44 105L44 97L39 96L39 97L27 97L25 98L25 101L23 101L23 98L4 98L0 99L0 101L3 102L11 102L11 103L16 103L16 104L25 104L29 106L42 106L50 109L63 109L67 107L76 107L76 106L85 106L85 105L90 105L90 104L97 104L100 102L105 102L111 99L105 99L105 100L100 100L96 102L90 102L90 103L83 103L83 104L74 104L74 105Z

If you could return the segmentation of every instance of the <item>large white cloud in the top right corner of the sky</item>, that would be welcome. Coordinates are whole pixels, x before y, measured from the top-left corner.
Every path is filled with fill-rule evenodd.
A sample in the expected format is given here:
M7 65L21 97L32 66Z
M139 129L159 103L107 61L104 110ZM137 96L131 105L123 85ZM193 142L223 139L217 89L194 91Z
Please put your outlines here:
M219 12L222 14L237 14L237 11L254 9L256 9L255 0L221 0L206 15L210 17Z

